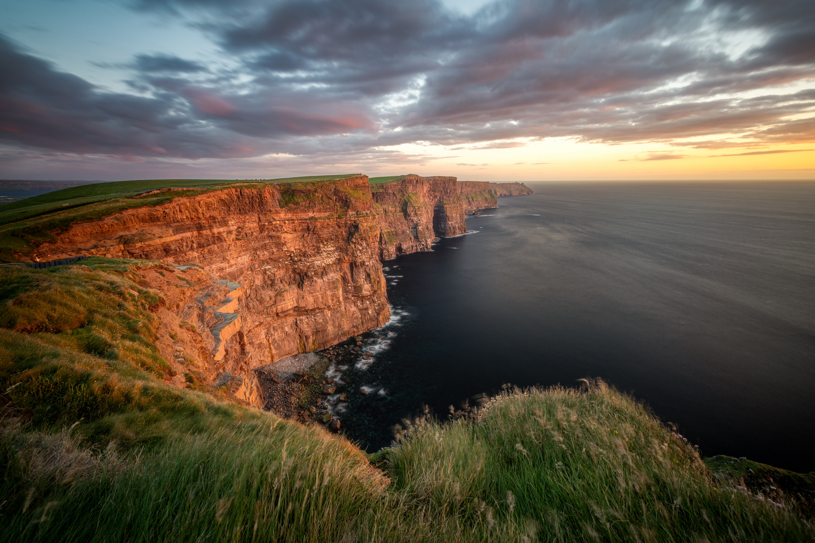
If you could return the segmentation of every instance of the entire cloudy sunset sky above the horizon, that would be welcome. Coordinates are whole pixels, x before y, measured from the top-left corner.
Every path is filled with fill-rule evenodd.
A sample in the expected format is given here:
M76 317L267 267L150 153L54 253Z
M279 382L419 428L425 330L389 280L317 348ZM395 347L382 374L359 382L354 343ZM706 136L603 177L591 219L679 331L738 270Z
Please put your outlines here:
M0 14L0 178L815 178L813 0Z

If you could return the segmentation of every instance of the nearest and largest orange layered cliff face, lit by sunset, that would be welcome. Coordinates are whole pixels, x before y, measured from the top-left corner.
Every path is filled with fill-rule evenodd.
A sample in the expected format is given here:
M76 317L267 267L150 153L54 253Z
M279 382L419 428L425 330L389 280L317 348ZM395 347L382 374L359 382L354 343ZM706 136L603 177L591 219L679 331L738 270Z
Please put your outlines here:
M365 176L231 187L73 225L34 256L200 265L228 285L196 309L212 331L216 370L249 378L387 322L379 221Z

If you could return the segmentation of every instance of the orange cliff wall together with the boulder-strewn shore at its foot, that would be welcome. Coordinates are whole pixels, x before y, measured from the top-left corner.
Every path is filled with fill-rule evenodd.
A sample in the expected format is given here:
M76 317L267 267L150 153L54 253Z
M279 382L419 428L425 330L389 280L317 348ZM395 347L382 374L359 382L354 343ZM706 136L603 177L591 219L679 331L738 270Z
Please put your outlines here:
M73 224L30 259L161 261L164 269L137 273L161 298L156 347L168 382L337 429L341 371L370 364L387 341L360 336L391 317L382 261L431 251L438 238L465 234L469 214L531 190L416 175L372 185L354 175L179 194Z

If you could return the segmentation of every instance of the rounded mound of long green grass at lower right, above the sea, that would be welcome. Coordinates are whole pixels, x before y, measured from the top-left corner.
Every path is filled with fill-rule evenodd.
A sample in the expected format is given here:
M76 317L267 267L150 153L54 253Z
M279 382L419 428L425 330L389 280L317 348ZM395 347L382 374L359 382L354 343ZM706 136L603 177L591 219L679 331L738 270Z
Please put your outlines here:
M604 385L507 392L407 436L386 461L394 486L456 515L465 541L815 537L791 504L720 488L685 440Z

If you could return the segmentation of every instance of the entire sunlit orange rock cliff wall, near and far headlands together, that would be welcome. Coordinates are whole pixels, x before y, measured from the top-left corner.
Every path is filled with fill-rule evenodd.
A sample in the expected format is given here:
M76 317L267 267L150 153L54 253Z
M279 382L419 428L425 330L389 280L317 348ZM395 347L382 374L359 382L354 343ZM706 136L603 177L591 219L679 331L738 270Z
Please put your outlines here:
M210 377L242 379L242 399L257 403L253 369L387 322L381 258L430 251L434 239L464 234L468 213L524 190L416 175L372 188L363 175L227 186L75 224L33 257L200 266L209 282L178 315L209 332L200 341Z

